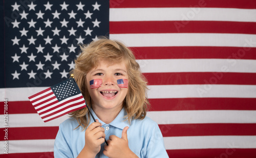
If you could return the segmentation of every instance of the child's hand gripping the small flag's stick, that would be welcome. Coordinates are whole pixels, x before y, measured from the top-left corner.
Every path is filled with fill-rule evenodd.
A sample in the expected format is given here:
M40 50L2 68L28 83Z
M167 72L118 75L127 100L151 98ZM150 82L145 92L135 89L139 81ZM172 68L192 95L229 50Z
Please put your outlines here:
M100 145L105 141L104 128L99 126L102 126L102 124L96 120L86 129L86 144L83 149L90 151L94 157L100 151Z

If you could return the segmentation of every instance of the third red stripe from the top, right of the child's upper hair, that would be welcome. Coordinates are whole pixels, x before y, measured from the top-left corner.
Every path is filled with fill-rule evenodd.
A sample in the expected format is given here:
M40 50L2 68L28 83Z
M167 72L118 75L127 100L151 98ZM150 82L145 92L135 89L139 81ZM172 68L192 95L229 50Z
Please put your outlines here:
M136 59L256 59L256 48L133 47Z

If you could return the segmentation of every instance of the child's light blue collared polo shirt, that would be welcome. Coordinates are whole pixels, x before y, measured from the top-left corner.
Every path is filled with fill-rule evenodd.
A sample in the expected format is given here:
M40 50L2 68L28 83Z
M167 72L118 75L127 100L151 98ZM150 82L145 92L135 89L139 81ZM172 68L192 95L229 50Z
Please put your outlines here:
M143 120L132 120L131 124L124 121L123 118L126 115L124 108L119 112L118 116L110 124L102 122L91 110L95 119L98 119L102 123L102 127L105 129L105 139L108 140L111 135L115 135L119 138L122 136L122 130L125 126L129 126L127 130L127 138L129 141L129 148L138 157L168 157L163 143L162 133L156 122L148 117ZM90 124L93 123L92 117L90 118ZM90 125L89 124L89 125ZM72 118L67 119L59 125L59 131L57 133L54 143L54 157L77 157L85 144L85 130L82 131L82 127L78 127L76 120ZM96 157L107 157L103 154L104 143L101 144L101 150Z

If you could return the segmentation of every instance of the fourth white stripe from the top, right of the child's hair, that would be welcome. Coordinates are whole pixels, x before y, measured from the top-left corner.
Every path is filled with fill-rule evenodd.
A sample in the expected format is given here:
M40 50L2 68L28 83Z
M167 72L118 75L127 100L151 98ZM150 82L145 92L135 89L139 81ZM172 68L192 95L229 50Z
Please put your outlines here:
M208 79L206 79L209 81ZM149 85L148 98L256 98L256 85Z

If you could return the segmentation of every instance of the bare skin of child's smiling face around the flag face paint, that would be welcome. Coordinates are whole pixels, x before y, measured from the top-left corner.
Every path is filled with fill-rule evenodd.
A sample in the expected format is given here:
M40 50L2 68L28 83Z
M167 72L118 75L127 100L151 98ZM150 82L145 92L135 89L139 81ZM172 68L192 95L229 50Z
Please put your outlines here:
M102 84L98 88L90 88L90 81L102 79ZM95 108L121 109L123 100L128 92L128 88L120 88L118 79L128 79L127 69L123 62L107 64L99 61L98 66L87 74L87 87Z

